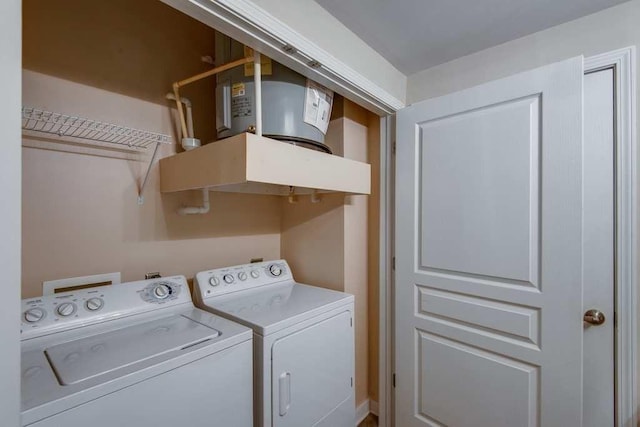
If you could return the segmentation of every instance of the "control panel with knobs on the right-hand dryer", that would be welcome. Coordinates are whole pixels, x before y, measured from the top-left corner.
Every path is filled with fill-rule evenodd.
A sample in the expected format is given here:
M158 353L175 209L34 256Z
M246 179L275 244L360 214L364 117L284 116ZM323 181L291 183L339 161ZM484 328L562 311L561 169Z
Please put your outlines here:
M287 261L235 265L196 274L196 296L200 300L293 280Z

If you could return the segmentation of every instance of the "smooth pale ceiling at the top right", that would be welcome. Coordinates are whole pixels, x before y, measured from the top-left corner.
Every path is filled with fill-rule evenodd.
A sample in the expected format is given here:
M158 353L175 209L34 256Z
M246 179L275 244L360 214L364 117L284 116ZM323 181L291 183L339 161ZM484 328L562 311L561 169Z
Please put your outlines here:
M409 75L627 0L315 1Z

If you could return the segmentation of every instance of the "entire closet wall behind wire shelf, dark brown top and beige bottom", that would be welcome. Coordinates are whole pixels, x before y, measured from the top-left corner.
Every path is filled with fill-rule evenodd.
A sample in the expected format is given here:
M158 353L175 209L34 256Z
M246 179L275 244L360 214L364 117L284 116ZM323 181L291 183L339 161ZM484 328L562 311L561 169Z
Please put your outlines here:
M211 28L156 0L25 0L23 13L23 105L178 139L164 96L172 81L210 67L200 57L214 54ZM204 141L215 136L213 82L183 92ZM213 193L209 214L181 217L178 207L199 203L199 194L161 195L157 164L137 204L149 152L126 160L55 141L23 141L23 297L39 295L43 280L111 271L125 281L149 271L192 276L280 256L278 198Z

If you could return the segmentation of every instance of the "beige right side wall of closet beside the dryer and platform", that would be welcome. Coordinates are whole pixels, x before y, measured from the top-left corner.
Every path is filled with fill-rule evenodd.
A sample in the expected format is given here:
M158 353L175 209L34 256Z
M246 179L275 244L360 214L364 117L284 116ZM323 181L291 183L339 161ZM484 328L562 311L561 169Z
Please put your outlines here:
M329 125L326 143L334 153L366 161L367 134L365 125L338 118ZM316 204L308 196L295 204L282 201L282 257L296 279L355 296L356 405L370 396L367 200L335 194L322 195Z

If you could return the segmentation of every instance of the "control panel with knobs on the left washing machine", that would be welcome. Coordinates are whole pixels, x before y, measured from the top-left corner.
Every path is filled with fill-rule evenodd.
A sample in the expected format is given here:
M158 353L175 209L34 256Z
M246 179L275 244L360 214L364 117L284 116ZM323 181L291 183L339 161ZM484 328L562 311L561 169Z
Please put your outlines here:
M99 286L22 300L22 339L191 304L184 276Z

